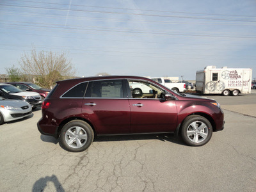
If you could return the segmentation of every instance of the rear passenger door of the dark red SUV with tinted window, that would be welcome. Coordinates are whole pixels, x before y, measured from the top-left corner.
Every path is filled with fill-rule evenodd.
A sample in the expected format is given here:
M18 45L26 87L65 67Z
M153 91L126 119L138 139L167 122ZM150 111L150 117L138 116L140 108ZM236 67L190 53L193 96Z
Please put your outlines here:
M130 132L131 111L122 79L91 81L83 99L82 113L97 134Z

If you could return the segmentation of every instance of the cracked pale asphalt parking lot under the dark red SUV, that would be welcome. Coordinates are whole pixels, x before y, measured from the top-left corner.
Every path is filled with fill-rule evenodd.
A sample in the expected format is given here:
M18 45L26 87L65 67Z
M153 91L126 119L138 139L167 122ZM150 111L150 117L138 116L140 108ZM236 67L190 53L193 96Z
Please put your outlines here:
M225 129L203 147L173 134L102 136L85 152L38 132L41 110L0 126L1 191L255 191L256 91L216 99Z

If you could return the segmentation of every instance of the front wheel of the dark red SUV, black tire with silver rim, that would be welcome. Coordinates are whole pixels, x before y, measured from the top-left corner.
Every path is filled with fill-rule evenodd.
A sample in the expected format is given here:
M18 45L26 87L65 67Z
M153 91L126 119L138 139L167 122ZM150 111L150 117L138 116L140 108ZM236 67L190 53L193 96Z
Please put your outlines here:
M200 115L191 115L185 118L181 127L181 138L187 145L202 146L212 137L212 125Z

